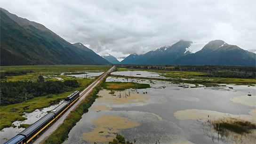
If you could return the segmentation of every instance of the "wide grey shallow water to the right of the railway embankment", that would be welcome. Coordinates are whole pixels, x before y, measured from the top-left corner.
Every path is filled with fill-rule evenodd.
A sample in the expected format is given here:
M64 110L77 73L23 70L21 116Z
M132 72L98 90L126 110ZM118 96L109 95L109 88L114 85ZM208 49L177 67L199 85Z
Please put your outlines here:
M232 102L232 98L247 96L248 92L253 95L251 98L256 102L255 87L226 85L224 87L208 88L182 88L195 86L193 84L175 84L160 80L139 80L108 77L106 81L134 81L138 83L149 83L152 88L127 89L126 91L115 91L116 96L108 94L110 91L101 90L100 98L83 114L82 119L69 133L69 139L64 144L70 143L108 143L114 138L113 133L123 135L130 142L155 144L160 141L162 144L169 143L222 143L213 141L205 134L200 120L204 117L213 118L216 113L226 113L236 116L251 116L255 106L243 103ZM233 87L230 89L229 87ZM133 96L125 97L128 92ZM118 98L117 96L120 96ZM193 109L192 111L189 111ZM208 111L206 111L208 110ZM176 112L187 112L183 120L175 116ZM192 112L195 112L194 114ZM194 116L196 114L196 116ZM102 116L113 116L126 118L139 125L132 128L123 128L121 123L116 126L103 127L94 120L102 120ZM252 122L256 123L255 119ZM114 128L114 127L119 127ZM110 129L106 130L105 129ZM104 131L103 133L98 133ZM98 135L90 139L90 135ZM100 140L98 140L100 139Z

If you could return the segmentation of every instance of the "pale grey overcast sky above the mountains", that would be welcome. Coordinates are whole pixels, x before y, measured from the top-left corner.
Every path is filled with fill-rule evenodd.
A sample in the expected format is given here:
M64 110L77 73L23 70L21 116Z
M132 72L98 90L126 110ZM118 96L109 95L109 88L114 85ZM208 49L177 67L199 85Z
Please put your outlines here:
M143 54L178 40L224 40L256 49L256 0L1 0L99 55Z

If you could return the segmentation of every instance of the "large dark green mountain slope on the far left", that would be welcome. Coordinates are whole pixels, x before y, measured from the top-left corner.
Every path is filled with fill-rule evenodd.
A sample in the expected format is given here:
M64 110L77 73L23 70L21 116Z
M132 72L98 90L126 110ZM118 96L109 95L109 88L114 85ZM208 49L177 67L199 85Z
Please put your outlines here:
M110 64L73 46L42 24L0 8L0 65Z

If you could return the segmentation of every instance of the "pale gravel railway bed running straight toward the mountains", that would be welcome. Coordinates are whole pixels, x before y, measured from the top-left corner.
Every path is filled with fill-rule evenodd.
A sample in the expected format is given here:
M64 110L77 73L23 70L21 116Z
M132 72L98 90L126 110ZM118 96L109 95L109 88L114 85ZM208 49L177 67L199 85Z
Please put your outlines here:
M68 111L66 111L51 127L49 127L38 139L36 139L33 144L40 144L41 142L43 142L43 140L45 140L48 136L50 136L62 123L63 121L66 119L66 117L68 116L68 114L74 110L74 108L76 106L78 106L78 104L80 104L80 102L86 97L88 96L88 94L93 90L93 88L95 88L97 86L97 84L103 80L106 75L109 72L112 72L114 70L114 66L109 69L107 72L105 72L102 76L100 76L97 80L95 80L91 85L89 85L87 88L85 88L82 92L80 92L80 99L78 102L76 102Z

